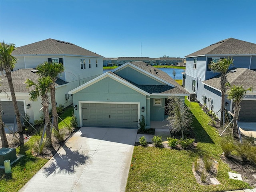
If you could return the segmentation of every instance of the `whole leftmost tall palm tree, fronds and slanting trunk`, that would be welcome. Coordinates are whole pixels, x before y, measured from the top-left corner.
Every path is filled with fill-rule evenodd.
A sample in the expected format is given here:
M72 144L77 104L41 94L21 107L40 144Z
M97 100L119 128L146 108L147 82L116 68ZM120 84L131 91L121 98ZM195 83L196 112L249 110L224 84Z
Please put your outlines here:
M18 133L20 135L20 144L24 144L24 137L23 137L23 130L22 130L22 124L20 120L20 112L18 109L18 104L14 92L14 87L12 84L12 75L11 70L15 67L15 63L17 59L12 56L12 52L16 50L15 44L5 44L4 41L0 43L0 68L5 70L5 76L7 77L11 96L12 96L12 103L14 106L14 112L16 114L16 120L17 120L17 127L18 127Z

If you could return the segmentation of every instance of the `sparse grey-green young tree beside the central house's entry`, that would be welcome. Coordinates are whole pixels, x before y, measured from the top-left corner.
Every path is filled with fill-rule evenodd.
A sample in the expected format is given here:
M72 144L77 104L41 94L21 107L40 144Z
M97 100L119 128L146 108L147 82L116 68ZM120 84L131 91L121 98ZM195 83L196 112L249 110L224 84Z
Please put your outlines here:
M185 104L177 97L168 97L169 103L166 106L168 111L168 126L172 132L181 132L184 139L184 132L191 128L192 114Z

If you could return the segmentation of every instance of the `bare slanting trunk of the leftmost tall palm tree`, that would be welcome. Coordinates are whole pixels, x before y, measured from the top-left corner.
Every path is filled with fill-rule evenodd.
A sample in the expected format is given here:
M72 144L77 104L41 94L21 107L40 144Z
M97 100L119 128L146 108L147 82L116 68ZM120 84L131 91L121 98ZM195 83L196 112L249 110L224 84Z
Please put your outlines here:
M6 77L8 80L8 84L9 84L9 88L10 88L10 92L11 92L11 96L12 96L14 112L16 115L18 133L20 135L20 144L23 145L24 144L24 136L23 136L22 124L21 124L21 120L20 120L20 112L18 109L18 104L17 104L17 100L16 100L16 96L15 96L15 92L14 92L14 88L13 88L13 84L12 84L11 72L6 71Z

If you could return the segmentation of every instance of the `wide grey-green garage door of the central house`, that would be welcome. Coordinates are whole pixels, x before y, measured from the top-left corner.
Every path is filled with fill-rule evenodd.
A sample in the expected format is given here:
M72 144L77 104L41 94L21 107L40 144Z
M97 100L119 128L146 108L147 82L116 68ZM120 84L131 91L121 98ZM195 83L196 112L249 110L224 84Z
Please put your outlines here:
M83 126L138 127L138 105L82 103Z

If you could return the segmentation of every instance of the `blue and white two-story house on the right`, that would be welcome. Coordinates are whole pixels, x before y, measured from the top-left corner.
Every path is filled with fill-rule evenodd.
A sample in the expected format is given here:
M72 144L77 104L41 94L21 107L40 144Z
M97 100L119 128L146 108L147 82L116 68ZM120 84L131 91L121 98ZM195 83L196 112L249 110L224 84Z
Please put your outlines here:
M214 73L208 68L208 64L211 61L216 62L220 58L228 57L234 59L234 66L230 68L256 69L256 44L228 38L186 56L186 74L183 76L184 87L191 93L190 98L194 94L201 104L206 104L209 110L214 110L214 112L218 112L220 109L219 96L221 93L216 86L208 85L210 79L218 76L218 73ZM238 72L234 74L238 74ZM248 85L251 80L256 81L256 76L248 76L243 81L238 82ZM252 100L255 99L252 98ZM230 107L232 108L232 103L227 102L229 103L229 110ZM253 115L253 111L248 114L248 116ZM218 113L218 117L220 118L220 113Z

